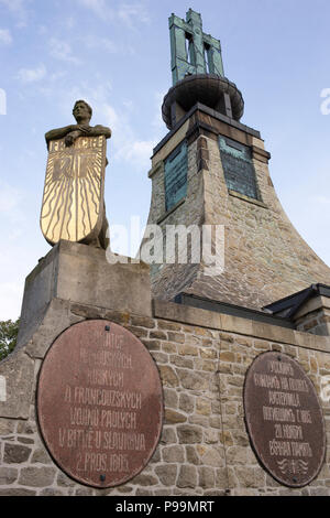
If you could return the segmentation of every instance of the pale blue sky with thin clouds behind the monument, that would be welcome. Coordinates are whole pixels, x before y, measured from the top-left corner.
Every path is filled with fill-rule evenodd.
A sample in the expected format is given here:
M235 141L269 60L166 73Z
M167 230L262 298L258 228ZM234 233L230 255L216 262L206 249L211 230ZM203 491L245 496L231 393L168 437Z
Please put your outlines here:
M51 249L38 223L44 133L75 122L75 100L112 130L110 225L145 225L150 158L167 133L168 18L189 8L221 41L284 209L330 265L329 0L0 0L0 320L20 315L24 279Z

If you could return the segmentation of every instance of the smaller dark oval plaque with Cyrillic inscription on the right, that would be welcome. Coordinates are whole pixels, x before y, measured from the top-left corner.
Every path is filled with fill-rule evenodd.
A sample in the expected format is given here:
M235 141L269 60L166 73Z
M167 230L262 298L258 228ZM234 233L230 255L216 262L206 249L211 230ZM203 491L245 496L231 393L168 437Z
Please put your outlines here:
M255 454L279 483L309 484L326 453L321 407L310 379L282 353L263 353L244 385L245 423Z

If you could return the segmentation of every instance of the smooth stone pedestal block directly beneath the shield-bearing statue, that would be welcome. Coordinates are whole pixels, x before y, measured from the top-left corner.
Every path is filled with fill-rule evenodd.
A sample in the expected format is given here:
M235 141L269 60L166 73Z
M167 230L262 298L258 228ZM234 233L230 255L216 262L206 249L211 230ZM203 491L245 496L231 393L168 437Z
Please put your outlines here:
M32 338L54 306L56 322L67 323L68 307L75 309L77 304L86 306L87 319L95 316L95 307L150 316L148 266L109 265L105 250L59 241L26 278L19 346Z

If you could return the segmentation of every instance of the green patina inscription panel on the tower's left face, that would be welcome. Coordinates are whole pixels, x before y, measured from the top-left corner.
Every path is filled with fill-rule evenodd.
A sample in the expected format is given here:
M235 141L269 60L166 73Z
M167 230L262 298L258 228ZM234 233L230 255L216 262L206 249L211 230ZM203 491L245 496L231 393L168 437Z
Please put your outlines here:
M170 211L187 194L187 143L178 145L165 161L166 211Z

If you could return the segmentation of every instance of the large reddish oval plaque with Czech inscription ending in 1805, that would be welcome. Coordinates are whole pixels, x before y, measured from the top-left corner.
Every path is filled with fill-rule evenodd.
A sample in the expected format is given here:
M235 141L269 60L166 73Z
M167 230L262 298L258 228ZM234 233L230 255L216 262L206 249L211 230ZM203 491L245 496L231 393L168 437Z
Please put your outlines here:
M128 330L81 322L56 338L43 361L37 416L67 475L94 487L123 484L145 467L161 436L158 370Z

